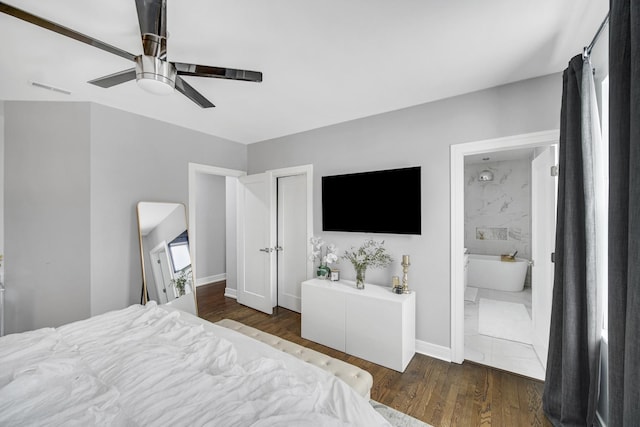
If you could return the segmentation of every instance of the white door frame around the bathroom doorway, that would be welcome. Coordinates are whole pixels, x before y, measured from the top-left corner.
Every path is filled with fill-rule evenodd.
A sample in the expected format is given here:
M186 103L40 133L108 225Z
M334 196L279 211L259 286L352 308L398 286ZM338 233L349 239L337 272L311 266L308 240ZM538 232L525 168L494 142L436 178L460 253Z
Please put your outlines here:
M451 176L451 361L464 361L464 157L507 149L558 144L557 129L455 144L450 147Z

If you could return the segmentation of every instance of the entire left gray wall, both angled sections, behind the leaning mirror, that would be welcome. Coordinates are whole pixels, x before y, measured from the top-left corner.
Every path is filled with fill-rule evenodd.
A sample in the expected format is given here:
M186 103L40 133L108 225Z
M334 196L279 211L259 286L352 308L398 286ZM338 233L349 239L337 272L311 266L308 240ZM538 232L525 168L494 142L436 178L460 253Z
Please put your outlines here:
M5 144L8 332L139 302L137 202L188 206L189 162L247 159L242 144L88 103L7 101Z

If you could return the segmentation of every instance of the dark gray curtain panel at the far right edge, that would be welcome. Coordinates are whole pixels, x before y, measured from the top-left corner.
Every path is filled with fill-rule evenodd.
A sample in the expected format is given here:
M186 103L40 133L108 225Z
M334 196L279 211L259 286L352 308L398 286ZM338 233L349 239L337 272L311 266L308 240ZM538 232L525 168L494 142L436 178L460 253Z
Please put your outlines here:
M640 2L609 19L609 426L640 426Z

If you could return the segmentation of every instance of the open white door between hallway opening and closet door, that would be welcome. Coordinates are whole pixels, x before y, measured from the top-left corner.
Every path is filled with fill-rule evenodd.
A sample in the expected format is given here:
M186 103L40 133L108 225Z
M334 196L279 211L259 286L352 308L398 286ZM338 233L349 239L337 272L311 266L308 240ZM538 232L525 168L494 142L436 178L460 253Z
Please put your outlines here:
M270 177L238 178L238 289L240 304L271 314L274 244L270 227Z

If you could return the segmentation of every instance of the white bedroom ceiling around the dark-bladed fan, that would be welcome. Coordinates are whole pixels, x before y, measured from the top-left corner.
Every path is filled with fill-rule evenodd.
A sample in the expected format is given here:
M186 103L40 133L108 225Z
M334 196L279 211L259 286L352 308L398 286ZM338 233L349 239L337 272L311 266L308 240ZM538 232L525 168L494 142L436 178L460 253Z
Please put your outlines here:
M9 0L135 55L133 0ZM562 71L607 0L168 0L168 59L262 71L185 77L216 104L135 82L86 83L132 62L0 14L0 100L93 101L241 143ZM58 94L37 81L72 92Z

